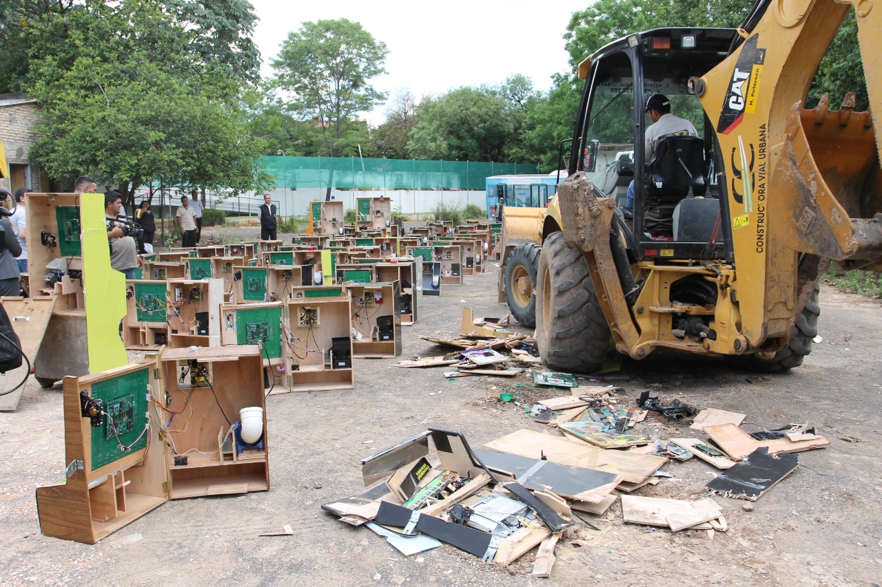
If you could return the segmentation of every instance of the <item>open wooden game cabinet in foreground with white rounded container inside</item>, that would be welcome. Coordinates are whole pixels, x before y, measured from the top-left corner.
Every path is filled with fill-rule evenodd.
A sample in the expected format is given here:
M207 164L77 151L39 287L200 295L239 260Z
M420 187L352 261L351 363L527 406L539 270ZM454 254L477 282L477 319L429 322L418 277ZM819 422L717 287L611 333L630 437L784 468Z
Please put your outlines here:
M245 412L257 442L241 442L243 408L259 408ZM269 489L264 408L257 346L65 377L66 479L37 488L41 531L94 544L169 499Z

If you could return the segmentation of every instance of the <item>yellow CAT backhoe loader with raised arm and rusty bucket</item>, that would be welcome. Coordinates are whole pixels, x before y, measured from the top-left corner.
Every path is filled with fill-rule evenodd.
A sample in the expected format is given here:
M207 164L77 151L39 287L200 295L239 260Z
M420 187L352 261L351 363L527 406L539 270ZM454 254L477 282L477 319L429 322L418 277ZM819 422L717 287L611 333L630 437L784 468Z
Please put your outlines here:
M852 8L871 109L856 111L854 94L806 109ZM869 0L759 0L738 29L635 33L581 63L570 176L536 214L531 286L549 368L597 368L610 334L634 359L668 347L756 370L800 365L821 262L879 269L879 38L882 7ZM654 137L650 159L654 94L697 137Z

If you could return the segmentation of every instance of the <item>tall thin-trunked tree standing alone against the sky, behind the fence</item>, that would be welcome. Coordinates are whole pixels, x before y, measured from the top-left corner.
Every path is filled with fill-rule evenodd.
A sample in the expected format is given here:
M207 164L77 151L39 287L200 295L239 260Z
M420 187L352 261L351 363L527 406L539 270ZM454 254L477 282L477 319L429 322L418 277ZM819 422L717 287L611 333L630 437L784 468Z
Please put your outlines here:
M320 133L325 155L339 157L367 142L366 126L358 124L385 94L370 79L385 73L385 43L348 19L305 22L288 34L273 59L273 87L289 113ZM331 182L326 199L331 198Z

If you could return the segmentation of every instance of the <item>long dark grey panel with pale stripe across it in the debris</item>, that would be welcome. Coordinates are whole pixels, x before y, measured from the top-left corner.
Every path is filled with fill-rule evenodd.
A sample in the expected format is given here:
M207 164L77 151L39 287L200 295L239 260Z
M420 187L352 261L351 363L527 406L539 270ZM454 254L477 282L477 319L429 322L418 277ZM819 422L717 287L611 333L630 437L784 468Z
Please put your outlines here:
M601 502L621 480L621 477L614 473L502 452L475 450L475 454L491 470L508 473L527 489L540 491L547 489L557 495L582 502Z

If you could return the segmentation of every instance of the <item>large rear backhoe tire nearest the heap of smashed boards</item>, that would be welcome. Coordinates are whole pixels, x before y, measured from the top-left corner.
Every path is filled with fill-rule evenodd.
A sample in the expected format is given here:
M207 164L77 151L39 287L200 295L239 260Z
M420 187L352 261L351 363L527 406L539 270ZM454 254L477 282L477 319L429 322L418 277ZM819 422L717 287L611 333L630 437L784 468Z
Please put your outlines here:
M591 373L609 350L603 316L585 256L570 249L563 233L542 244L536 271L536 343L548 368Z

